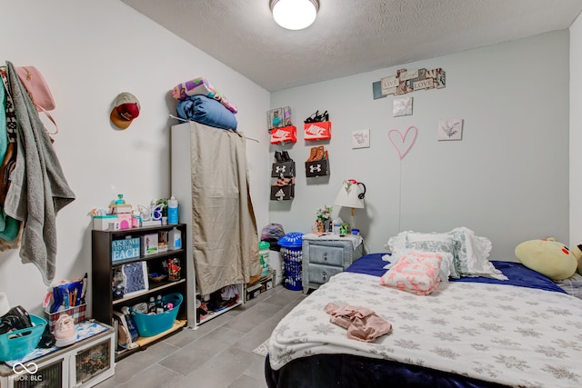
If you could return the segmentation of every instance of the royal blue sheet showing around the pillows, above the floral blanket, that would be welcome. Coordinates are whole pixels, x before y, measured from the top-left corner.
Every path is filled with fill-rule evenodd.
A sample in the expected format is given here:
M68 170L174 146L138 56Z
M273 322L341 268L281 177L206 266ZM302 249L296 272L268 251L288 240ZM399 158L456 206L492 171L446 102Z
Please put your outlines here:
M356 274L371 274L382 276L386 273L383 267L388 264L382 260L385 254L366 254L350 265L346 271ZM462 277L460 279L449 279L450 282L487 283L487 284L509 284L519 287L538 288L540 290L554 291L556 293L566 293L557 284L552 282L547 276L530 270L524 264L514 262L504 262L492 260L491 263L505 274L509 280L497 280L488 277Z

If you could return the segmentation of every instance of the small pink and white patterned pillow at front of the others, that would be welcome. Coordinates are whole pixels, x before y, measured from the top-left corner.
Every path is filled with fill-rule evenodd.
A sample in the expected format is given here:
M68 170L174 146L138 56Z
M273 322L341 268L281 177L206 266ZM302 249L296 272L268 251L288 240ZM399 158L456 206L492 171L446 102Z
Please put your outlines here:
M443 256L437 252L411 252L404 254L396 264L383 274L380 285L396 288L416 295L428 295L440 284L440 265Z

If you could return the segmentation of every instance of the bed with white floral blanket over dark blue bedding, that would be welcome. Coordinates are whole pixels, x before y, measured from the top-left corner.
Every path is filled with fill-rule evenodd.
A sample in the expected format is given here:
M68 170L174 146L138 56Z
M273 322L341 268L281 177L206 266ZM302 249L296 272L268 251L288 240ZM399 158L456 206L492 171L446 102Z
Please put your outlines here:
M546 276L491 261L507 280L451 278L423 296L380 285L385 259L363 256L277 324L269 387L582 386L582 301ZM330 302L366 306L392 332L347 339L324 311Z

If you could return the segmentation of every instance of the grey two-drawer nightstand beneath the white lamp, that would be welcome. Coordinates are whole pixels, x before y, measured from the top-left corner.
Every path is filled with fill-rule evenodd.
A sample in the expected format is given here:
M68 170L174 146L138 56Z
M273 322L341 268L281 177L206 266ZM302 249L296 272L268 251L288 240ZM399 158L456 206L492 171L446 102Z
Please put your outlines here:
M362 237L336 234L304 234L302 252L303 292L327 283L362 256Z

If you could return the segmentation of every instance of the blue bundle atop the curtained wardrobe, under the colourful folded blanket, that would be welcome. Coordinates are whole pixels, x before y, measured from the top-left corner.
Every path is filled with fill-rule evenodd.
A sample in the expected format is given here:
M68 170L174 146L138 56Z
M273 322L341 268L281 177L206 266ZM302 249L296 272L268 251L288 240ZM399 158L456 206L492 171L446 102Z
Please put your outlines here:
M178 102L176 110L178 116L183 119L236 131L235 114L226 109L223 104L205 95L186 97L185 100Z

